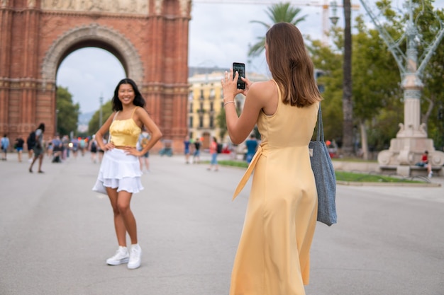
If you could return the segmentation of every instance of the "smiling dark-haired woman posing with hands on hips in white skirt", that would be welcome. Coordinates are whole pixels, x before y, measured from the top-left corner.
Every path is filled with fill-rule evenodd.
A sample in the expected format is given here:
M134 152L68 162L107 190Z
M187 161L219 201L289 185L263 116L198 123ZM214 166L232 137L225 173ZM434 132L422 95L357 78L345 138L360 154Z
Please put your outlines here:
M138 244L130 202L133 193L143 190L138 157L148 152L162 137L162 133L146 112L145 100L133 80L123 79L118 83L112 103L113 114L96 133L97 144L105 154L93 190L108 195L114 212L118 250L106 263L120 265L128 262L127 267L135 269L140 267L142 250ZM136 144L143 126L150 132L151 139L138 151ZM107 132L110 138L104 141ZM131 238L129 253L126 248L127 232Z

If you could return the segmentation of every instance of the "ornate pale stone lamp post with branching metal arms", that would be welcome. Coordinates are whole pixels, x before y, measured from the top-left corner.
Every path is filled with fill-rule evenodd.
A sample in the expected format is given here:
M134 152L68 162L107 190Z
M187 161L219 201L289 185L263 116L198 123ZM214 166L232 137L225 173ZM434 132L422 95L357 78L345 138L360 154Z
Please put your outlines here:
M427 138L425 124L420 124L420 99L423 89L421 76L433 52L443 39L444 21L436 16L440 23L438 33L435 35L433 42L425 48L421 56L422 59L418 60L417 45L422 40L414 22L412 1L409 0L406 5L409 11L409 19L406 20L406 31L401 36L401 38L406 38L406 54L399 48L399 42L393 40L382 23L379 23L377 15L370 9L366 1L360 0L360 2L379 31L382 40L392 52L401 73L401 88L404 90L404 124L399 123L399 132L396 134L396 138L390 141L390 148L378 154L379 166L396 168L396 173L399 175L410 175L411 166L418 162L423 151L427 150L432 166L442 167L444 153L435 151L433 139ZM442 172L440 171L440 173Z

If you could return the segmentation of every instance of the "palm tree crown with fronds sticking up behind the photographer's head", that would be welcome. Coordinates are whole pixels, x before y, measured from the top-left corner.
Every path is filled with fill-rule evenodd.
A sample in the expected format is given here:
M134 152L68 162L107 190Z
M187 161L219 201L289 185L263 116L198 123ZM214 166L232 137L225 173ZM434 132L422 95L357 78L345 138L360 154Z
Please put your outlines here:
M267 11L265 12L272 21L271 25L268 23L264 23L262 21L250 21L250 23L260 23L261 25L264 25L265 28L267 28L267 30L269 30L272 27L272 25L274 25L274 23L284 22L296 25L301 21L305 21L306 18L306 15L296 18L298 14L301 12L301 8L294 8L291 6L289 2L273 4L272 6L267 8ZM264 48L265 48L265 36L257 37L257 43L255 45L252 45L252 47L250 47L250 50L248 51L248 56L257 57L259 54L262 53Z

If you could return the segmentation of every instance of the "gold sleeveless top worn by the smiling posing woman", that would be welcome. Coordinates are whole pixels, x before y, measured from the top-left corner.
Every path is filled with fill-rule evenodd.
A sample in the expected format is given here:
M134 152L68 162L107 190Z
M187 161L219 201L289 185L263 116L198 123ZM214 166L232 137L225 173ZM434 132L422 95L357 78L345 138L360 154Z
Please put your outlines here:
M109 127L109 134L111 134L111 142L114 146L131 146L135 147L139 139L142 129L135 124L133 120L135 109L131 118L126 120L113 120ZM117 115L118 112L116 112Z

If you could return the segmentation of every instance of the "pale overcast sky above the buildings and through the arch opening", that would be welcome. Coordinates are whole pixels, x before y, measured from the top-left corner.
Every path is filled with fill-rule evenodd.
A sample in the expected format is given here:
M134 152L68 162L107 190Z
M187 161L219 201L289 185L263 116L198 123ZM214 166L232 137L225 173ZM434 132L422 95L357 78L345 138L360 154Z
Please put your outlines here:
M221 4L227 1L230 0L219 0L216 3L215 0L193 2L192 20L189 23L189 66L218 66L229 69L233 62L245 62L247 71L267 74L264 53L248 61L249 45L255 44L257 37L262 37L266 33L262 25L250 21L270 23L265 11L270 3L279 1L270 0L268 4ZM263 1L256 0L262 3ZM323 1L299 0L292 3L321 4ZM337 3L342 1L337 0ZM367 0L367 3L374 1ZM352 4L360 3L355 0ZM444 0L435 1L435 7L443 8ZM298 25L301 33L321 40L321 6L301 5L299 8L302 9L302 16L308 15L306 21ZM352 18L363 13L365 10L361 6L360 11L352 11ZM338 25L343 25L342 8L338 8L338 16L340 17ZM80 104L83 113L98 110L101 96L104 102L110 100L116 84L123 78L125 72L118 59L111 53L97 48L84 48L72 52L63 60L57 71L57 85L68 88L74 103Z

